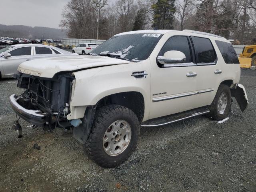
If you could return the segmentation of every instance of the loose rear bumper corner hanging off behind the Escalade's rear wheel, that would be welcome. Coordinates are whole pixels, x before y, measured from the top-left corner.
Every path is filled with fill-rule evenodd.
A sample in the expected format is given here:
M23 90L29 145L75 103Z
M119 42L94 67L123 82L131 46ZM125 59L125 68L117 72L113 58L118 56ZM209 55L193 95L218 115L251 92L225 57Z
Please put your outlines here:
M244 112L249 104L244 86L242 84L236 83L232 86L230 90L231 96L236 98L240 110Z

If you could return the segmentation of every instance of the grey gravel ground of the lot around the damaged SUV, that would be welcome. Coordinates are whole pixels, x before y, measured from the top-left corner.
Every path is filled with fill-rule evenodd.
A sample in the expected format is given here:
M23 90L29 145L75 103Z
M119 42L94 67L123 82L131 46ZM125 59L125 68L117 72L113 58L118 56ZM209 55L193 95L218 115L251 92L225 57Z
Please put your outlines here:
M233 102L222 124L202 116L142 128L130 159L104 169L88 159L70 132L44 132L21 120L24 137L17 139L8 97L22 90L14 79L1 80L0 191L255 192L256 70L242 70L240 82L250 102L243 114Z

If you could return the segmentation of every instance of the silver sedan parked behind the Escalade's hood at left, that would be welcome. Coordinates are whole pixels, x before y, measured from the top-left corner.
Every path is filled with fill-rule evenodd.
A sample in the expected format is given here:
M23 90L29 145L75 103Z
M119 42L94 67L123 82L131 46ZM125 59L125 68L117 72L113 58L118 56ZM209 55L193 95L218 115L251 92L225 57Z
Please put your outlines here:
M0 78L12 77L18 66L34 59L72 56L73 53L47 45L17 44L0 49ZM77 55L77 54L75 54Z

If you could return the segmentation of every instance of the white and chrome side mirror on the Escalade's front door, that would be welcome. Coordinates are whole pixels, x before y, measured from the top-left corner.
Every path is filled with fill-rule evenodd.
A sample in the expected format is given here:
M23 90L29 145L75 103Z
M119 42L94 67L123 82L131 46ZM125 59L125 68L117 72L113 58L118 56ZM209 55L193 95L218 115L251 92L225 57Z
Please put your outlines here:
M160 64L184 63L186 56L180 51L167 51L164 56L158 56L157 60Z

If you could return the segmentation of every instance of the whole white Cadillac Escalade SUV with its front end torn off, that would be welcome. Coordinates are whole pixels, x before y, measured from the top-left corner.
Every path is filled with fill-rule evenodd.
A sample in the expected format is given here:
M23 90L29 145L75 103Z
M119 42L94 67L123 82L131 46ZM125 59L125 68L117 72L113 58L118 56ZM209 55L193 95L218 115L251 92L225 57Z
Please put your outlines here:
M25 92L10 96L10 103L18 116L44 130L72 128L102 167L128 159L140 127L203 114L222 120L232 96L242 111L248 106L236 52L220 36L132 31L90 54L22 63L16 78ZM20 134L18 121L14 128Z

